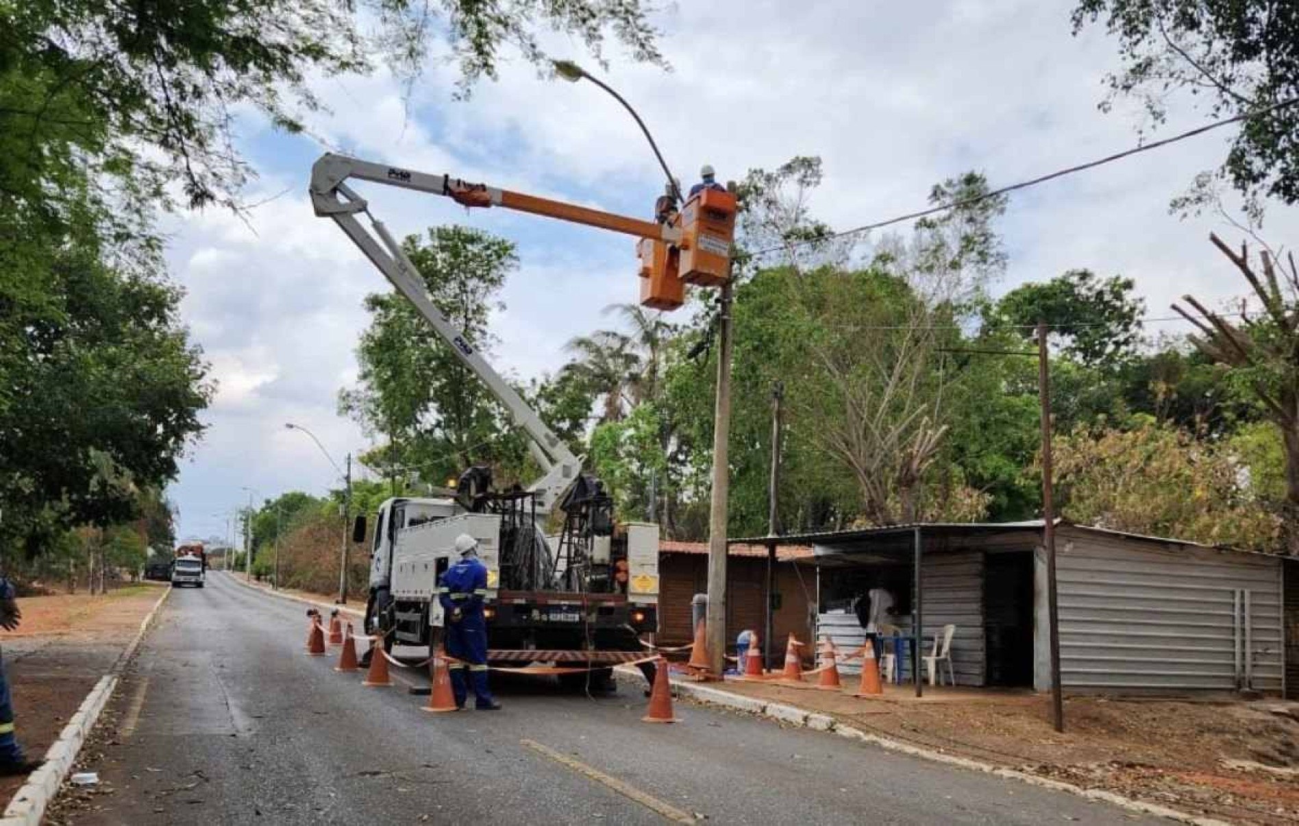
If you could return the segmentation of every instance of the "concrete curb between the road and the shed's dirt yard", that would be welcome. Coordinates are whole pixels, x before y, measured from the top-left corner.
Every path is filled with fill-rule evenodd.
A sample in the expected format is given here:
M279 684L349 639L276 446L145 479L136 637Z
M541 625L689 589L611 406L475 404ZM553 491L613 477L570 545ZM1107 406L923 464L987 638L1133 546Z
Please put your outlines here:
M639 675L639 671L635 671L635 674ZM1078 795L1079 797L1086 797L1089 800L1108 803L1121 809L1126 809L1129 812L1137 812L1141 814L1154 814L1156 817L1164 817L1182 823L1191 823L1192 826L1229 826L1225 821L1218 821L1209 817L1200 817L1198 814L1190 814L1186 812L1178 812L1177 809L1161 807L1155 803L1146 803L1143 800L1124 797L1122 795L1117 795L1115 792L1105 791L1103 788L1083 788L1082 786L1074 786L1073 783L1065 783L1063 781L1052 781L1044 777L1038 777L1035 774L1029 774L1026 771L1017 771L1015 769L994 766L992 764L982 762L978 760L970 760L968 757L959 757L956 755L947 755L920 745L912 745L911 743L894 740L891 738L885 738L877 734L861 731L860 729L855 729L852 726L846 726L843 723L839 723L829 714L818 714L816 712L809 712L807 709L801 709L795 705L788 705L786 703L766 703L757 697L731 694L730 691L724 691L721 688L714 688L711 686L700 686L698 683L690 683L677 679L672 681L672 686L673 688L677 690L677 694L679 696L691 697L700 703L711 703L713 705L721 705L738 712L759 714L763 717L769 717L772 720L776 720L777 722L813 729L816 731L833 731L834 734L838 734L842 738L847 738L850 740L857 740L860 743L869 743L872 745L878 745L879 748L886 748L891 752L899 752L903 755L909 755L912 757L930 760L933 762L942 762L950 766L956 766L959 769L983 771L985 774L992 774L1012 781L1020 781L1042 788L1069 792L1072 795Z

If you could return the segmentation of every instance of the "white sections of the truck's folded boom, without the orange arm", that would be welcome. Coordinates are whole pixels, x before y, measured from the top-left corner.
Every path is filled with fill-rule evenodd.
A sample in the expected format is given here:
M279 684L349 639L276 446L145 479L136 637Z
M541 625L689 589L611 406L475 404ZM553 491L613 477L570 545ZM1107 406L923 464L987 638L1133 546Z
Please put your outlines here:
M514 422L527 432L529 451L546 471L529 490L538 494L538 512L549 513L577 479L582 470L582 461L568 449L564 440L547 427L546 422L514 392L514 388L483 360L478 351L465 340L464 334L447 321L446 316L429 300L414 265L410 264L410 260L401 251L401 245L388 234L383 223L370 214L365 199L347 186L348 178L433 195L446 195L449 178L326 153L312 166L312 206L317 216L333 218L342 227L352 243L414 305L429 325L438 331L438 335L451 345L451 351L465 366L473 370L492 396L505 405ZM357 221L357 213L365 213L370 219L373 234Z

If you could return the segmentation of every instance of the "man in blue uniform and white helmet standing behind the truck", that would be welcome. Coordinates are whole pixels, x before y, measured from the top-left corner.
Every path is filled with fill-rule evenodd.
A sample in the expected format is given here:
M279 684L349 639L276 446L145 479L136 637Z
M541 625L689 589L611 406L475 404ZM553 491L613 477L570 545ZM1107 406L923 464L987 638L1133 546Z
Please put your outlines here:
M455 660L447 666L451 691L456 696L456 708L464 708L469 687L473 687L474 708L494 712L500 703L487 690L487 621L483 618L487 566L478 558L478 540L469 534L456 536L456 552L460 561L447 569L438 582L438 601L447 625L447 653Z

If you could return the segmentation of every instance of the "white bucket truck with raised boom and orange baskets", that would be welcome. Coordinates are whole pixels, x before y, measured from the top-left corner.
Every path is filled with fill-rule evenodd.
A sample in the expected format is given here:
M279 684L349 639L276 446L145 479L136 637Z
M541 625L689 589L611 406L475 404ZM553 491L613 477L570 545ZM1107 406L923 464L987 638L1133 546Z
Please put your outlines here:
M487 387L526 434L542 468L542 477L526 490L496 491L488 468L470 468L455 490L440 496L385 501L373 532L366 631L383 632L390 647L438 644L443 626L438 579L459 558L456 536L469 534L478 539L488 570L488 662L586 664L608 679L612 665L643 653L639 635L657 626L657 525L614 518L612 499L583 473L582 460L430 301L401 245L370 214L351 181L637 236L642 301L661 309L681 305L683 283L716 286L727 275L734 196L696 196L681 213L651 222L334 153L312 169L316 214L347 234ZM552 513L562 514L562 529L548 538L543 525Z

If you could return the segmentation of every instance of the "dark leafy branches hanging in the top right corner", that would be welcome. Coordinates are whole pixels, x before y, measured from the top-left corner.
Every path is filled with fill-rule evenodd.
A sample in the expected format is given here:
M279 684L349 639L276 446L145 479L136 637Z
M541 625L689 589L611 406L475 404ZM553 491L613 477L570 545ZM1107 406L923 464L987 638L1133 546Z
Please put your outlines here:
M1215 116L1246 118L1218 175L1255 206L1263 197L1299 203L1299 8L1272 0L1081 0L1077 34L1103 22L1118 39L1124 69L1111 100L1134 96L1156 123L1172 91L1208 103Z

